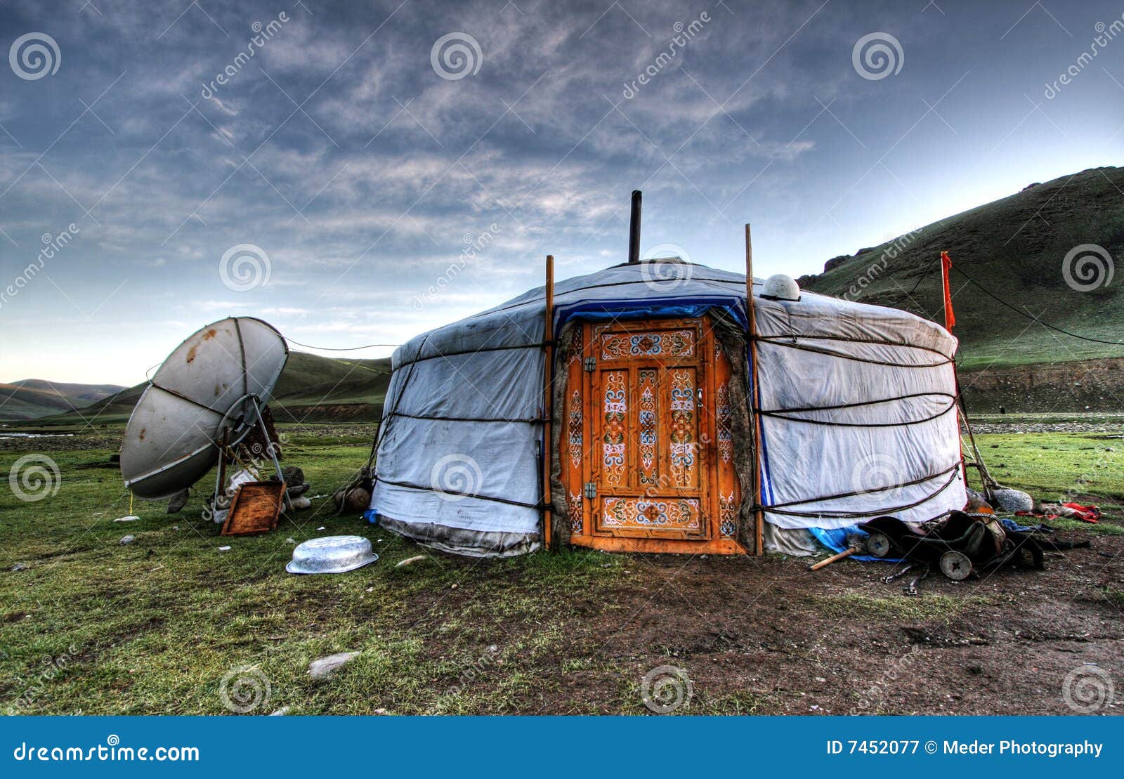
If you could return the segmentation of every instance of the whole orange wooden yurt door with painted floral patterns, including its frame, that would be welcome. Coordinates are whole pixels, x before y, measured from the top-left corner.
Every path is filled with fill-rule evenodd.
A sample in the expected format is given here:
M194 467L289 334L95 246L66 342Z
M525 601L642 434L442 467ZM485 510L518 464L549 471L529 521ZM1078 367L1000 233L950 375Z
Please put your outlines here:
M729 363L705 319L583 324L560 445L571 543L744 553Z

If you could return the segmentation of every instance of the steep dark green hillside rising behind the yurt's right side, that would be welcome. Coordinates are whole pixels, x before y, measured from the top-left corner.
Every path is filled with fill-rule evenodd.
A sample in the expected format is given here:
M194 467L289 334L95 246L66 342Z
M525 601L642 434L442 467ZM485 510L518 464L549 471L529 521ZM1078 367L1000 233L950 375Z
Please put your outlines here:
M1096 244L1114 259L1124 256L1124 169L1095 167L1031 184L895 241L830 260L822 274L799 282L816 292L904 308L943 323L937 260L946 250L957 268L1025 315L954 271L953 333L961 342L962 369L994 372L1122 357L1124 346L1081 341L1041 324L1124 342L1124 269L1090 291L1066 281L1063 261L1081 244ZM1080 281L1080 269L1073 274Z

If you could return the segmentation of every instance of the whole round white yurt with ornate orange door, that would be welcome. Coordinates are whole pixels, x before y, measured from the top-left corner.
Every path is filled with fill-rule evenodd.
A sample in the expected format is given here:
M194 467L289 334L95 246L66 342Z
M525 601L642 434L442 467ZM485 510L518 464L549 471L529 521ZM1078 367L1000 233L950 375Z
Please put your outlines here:
M399 347L368 518L475 556L800 554L963 507L948 330L635 255Z

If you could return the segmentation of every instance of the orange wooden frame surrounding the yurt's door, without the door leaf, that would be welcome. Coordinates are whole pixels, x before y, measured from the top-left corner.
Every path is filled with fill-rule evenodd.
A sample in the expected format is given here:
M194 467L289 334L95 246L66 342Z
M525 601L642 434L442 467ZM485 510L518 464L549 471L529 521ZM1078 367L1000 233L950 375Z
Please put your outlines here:
M586 482L599 483L599 474L601 467L601 458L592 456L592 446L597 443L593 442L593 419L592 415L600 411L600 404L595 404L593 393L593 371L586 371L582 366L582 359L587 354L592 354L590 351L593 348L592 335L593 330L600 323L597 321L581 321L575 323L575 327L580 328L580 343L581 343L581 354L578 355L578 360L571 361L569 370L581 371L581 392L582 392L582 441L587 442L586 449L587 454L581 461L581 473L577 475L580 479L578 484L579 490L581 490ZM699 510L707 522L707 531L709 537L707 540L682 540L682 538L660 538L660 537L622 537L614 536L604 533L598 533L595 527L593 511L596 510L597 500L582 499L581 500L581 532L572 533L570 537L570 543L577 546L587 546L590 549L599 549L611 552L647 552L647 553L672 553L672 554L746 554L745 547L737 542L736 538L724 537L719 531L722 523L722 505L720 505L720 488L719 488L719 475L718 475L718 423L716 419L715 410L717 408L717 390L718 383L715 377L715 332L714 325L709 317L691 317L691 318L650 318L650 319L629 319L613 323L615 328L635 332L649 332L656 328L673 328L673 327L690 327L698 328L701 334L701 338L696 344L696 348L699 351L698 365L698 378L696 383L701 381L704 383L704 404L703 408L698 411L698 428L697 428L697 440L698 446L696 449L696 456L698 459L698 473L699 473ZM577 341L574 341L577 343ZM600 355L596 355L598 359ZM692 362L692 366L696 363ZM628 387L629 397L633 387ZM570 411L570 399L566 399L564 406L565 410ZM704 413L706 411L706 413ZM561 454L561 453L560 453ZM736 463L734 465L736 470ZM573 482L575 480L575 474L571 471L569 478L569 484L566 484L568 493L572 492ZM735 479L735 483L738 480ZM737 484L736 490L740 492L740 484ZM579 492L580 493L580 492ZM736 497L736 501L740 501L740 495Z

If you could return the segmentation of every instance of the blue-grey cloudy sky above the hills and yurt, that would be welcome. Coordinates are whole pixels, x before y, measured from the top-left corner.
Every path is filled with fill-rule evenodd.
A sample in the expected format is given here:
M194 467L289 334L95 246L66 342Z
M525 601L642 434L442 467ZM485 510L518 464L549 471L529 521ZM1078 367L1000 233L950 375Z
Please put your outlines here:
M401 343L624 261L633 189L645 252L738 270L751 221L759 275L816 272L1118 164L1122 13L3 1L0 381L135 383L228 314Z

